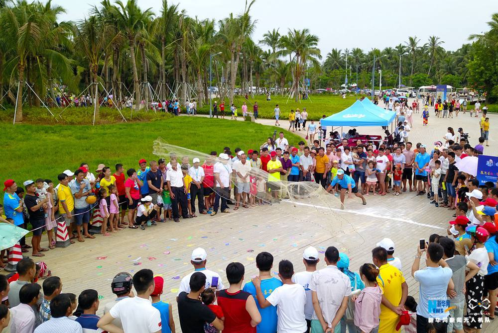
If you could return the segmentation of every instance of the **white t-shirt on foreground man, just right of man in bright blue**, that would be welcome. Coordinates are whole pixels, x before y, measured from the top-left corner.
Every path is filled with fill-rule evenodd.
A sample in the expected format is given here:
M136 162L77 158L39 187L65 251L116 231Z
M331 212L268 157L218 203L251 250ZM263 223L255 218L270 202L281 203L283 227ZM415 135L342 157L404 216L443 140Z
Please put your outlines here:
M266 300L277 307L278 332L302 333L306 331L304 306L306 294L300 284L284 284L273 290Z

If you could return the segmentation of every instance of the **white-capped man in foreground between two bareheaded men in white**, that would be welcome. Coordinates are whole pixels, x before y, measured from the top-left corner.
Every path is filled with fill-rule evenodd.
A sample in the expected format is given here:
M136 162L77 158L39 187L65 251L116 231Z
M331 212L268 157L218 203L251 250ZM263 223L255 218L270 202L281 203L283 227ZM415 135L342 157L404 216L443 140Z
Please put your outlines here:
M318 258L318 250L313 247L308 247L303 253L303 263L306 270L303 272L295 273L292 281L300 284L306 293L306 305L304 306L304 317L306 318L306 325L308 330L311 328L311 319L315 314L313 309L313 297L311 296L311 289L309 288L311 276L316 271L316 264L320 261Z

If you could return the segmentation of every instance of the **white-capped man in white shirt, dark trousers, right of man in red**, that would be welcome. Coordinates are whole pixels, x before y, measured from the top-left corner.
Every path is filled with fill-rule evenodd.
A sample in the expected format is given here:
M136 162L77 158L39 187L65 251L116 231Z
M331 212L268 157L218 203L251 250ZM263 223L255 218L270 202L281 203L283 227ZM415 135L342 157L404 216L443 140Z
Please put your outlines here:
M213 167L213 173L215 176L214 191L216 196L211 216L215 216L218 213L218 208L220 208L220 199L221 212L230 213L230 209L228 209L227 205L227 199L230 198L230 176L232 174L232 167L229 164L229 160L230 157L227 154L221 153L219 161L216 162Z

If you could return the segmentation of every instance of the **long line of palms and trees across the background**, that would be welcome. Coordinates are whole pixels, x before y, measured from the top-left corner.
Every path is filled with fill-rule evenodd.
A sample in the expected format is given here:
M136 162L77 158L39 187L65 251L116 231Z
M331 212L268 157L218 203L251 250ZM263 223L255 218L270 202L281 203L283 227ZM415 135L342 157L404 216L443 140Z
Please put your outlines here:
M246 1L239 14L201 20L167 0L157 14L137 0L102 0L73 22L61 21L65 9L51 0L0 0L0 103L17 104L16 121L22 121L23 103L54 101L61 86L75 94L89 87L92 98L132 95L136 110L136 101L147 105L173 93L185 101L191 92L201 107L210 85L224 90L231 103L236 86L285 87L297 101L305 78L309 88L335 88L346 74L356 82L357 68L360 86L369 85L373 66L375 76L382 70L382 85L395 86L399 62L405 85L471 85L498 96L498 67L488 66L497 61L497 14L489 32L471 36L456 51L446 51L437 36L426 43L413 36L383 50L332 49L322 62L319 38L308 29L273 29L254 40L254 2Z

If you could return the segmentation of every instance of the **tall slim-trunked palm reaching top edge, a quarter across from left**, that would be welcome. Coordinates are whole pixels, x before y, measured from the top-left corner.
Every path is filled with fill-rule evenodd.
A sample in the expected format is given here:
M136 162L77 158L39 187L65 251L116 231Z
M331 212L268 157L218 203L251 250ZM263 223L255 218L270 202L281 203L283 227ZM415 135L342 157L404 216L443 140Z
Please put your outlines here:
M124 5L122 1L116 1L116 5L111 8L111 11L115 16L118 28L128 39L131 68L133 70L133 88L135 90L135 111L138 111L141 98L135 59L135 43L140 33L142 33L142 30L145 28L147 20L153 13L151 8L142 11L138 7L137 0L128 0L126 5Z

